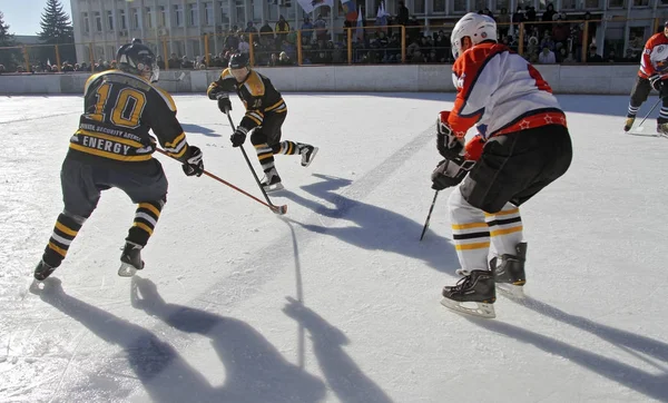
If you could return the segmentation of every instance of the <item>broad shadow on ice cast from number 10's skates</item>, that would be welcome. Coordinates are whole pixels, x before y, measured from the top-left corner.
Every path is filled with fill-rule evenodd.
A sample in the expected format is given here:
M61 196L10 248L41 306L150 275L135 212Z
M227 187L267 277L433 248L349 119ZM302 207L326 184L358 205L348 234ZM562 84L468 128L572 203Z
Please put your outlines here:
M100 373L122 374L129 367L151 401L318 402L325 396L322 381L287 362L245 322L167 304L150 281L132 278L132 305L177 330L209 337L225 366L224 380L219 380L225 381L222 386L213 386L171 344L161 341L153 332L65 294L59 279L48 278L45 289L35 293L101 340L124 348L122 357L127 360L127 366L121 364L118 368ZM106 381L97 380L84 389L94 389L95 393L109 400L125 400L134 392L131 386L124 390L125 382L119 383L116 377ZM100 391L100 385L108 385L108 390Z

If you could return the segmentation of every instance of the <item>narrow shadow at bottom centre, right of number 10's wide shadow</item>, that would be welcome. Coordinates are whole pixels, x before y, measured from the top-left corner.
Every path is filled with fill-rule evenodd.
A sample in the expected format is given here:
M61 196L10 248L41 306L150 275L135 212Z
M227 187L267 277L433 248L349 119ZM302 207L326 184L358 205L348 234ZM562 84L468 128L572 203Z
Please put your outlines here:
M347 355L343 346L348 343L348 340L343 332L294 298L287 298L283 312L297 321L311 334L317 363L327 384L341 402L392 402L385 392L369 379Z

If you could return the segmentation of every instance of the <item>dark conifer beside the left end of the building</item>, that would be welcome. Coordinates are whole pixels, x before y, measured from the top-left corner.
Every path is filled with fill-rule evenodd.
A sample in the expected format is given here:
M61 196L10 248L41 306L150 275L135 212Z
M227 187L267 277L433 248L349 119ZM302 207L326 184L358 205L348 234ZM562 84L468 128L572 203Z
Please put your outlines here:
M47 0L47 7L41 16L41 32L38 32L39 39L45 45L58 45L60 61L76 62L75 50L75 29L72 28L70 17L62 10L60 0ZM42 47L40 61L47 59L56 62L56 49L52 46Z

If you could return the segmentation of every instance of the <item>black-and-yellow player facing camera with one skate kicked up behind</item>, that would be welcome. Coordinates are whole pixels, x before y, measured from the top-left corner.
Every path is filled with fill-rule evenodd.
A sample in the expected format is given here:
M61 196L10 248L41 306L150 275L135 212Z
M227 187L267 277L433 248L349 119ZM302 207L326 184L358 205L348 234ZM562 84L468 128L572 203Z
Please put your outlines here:
M236 53L229 59L229 67L207 89L209 99L218 101L218 108L227 114L232 110L228 92L236 91L244 106L246 115L229 138L233 147L239 147L246 140L250 130L250 142L257 153L265 177L262 186L266 191L283 189L281 177L274 165L275 154L298 154L302 166L307 167L317 153L317 147L289 140L281 141L281 127L287 116L287 106L281 92L272 81L252 70L247 53Z

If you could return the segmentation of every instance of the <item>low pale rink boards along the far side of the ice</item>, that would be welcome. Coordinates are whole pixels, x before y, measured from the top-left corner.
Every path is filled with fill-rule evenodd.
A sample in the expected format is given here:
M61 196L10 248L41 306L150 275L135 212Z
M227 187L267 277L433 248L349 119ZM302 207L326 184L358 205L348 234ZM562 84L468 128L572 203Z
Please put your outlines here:
M454 91L451 65L308 66L257 68L279 91ZM638 66L536 66L556 94L629 95ZM186 70L181 81L160 81L170 92L205 92L220 71ZM180 71L161 71L174 79ZM87 73L2 75L0 95L81 94Z

